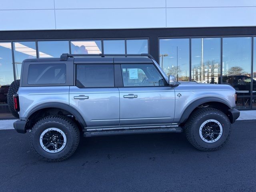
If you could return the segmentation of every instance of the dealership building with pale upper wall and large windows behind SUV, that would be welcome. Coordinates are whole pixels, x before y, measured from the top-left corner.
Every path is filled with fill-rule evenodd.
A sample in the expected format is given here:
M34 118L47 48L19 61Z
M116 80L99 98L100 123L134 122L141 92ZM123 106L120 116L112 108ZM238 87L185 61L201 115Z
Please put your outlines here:
M27 58L151 54L179 81L230 84L256 108L255 0L3 0L0 113Z

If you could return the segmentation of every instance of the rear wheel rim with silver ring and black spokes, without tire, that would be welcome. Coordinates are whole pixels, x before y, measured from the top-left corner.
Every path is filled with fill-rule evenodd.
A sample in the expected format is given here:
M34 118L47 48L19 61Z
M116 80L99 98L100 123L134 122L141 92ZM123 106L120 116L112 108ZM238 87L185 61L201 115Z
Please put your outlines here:
M58 128L48 128L40 135L41 147L50 153L60 152L64 149L66 143L66 135Z

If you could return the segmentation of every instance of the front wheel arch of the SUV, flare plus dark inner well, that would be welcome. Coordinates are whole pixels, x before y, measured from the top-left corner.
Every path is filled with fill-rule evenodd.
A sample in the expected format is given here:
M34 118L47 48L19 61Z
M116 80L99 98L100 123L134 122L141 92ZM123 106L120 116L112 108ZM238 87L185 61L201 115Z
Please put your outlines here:
M228 116L230 122L233 122L232 114L229 112L229 110L231 110L232 107L230 106L230 104L228 104L228 102L226 102L225 100L222 100L220 98L216 98L216 97L207 97L207 98L200 98L200 99L192 102L191 104L189 104L186 107L186 109L184 110L184 112L180 118L180 123L186 122L186 120L188 119L190 114L197 108L200 108L200 107L203 108L203 107L208 107L208 106L210 106L212 108L216 108L216 109L224 112Z

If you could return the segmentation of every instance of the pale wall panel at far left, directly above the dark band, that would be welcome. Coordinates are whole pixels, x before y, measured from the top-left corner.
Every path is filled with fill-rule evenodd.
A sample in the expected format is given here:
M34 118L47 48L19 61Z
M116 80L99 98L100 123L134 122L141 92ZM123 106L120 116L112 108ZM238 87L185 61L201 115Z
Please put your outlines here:
M55 29L54 10L0 10L0 30Z

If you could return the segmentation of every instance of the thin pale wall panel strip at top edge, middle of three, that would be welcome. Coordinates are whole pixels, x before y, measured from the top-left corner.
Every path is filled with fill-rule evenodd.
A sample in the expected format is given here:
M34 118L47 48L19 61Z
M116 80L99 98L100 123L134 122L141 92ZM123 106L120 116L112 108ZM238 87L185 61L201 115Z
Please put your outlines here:
M165 0L55 0L55 8L165 8Z

